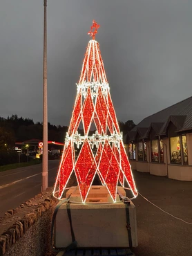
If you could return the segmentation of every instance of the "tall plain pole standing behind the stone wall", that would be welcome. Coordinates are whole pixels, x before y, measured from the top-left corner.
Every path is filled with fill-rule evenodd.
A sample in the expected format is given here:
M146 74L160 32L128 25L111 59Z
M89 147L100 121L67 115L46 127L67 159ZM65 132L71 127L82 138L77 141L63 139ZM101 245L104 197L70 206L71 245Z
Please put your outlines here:
M48 188L47 0L44 0L44 100L42 192Z

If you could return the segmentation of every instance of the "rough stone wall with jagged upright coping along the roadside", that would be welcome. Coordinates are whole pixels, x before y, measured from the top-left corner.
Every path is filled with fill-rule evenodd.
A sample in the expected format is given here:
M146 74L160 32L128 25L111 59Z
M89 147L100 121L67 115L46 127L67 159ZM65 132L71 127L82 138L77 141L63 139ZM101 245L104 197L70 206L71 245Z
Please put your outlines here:
M41 256L50 251L50 226L57 201L48 196L0 236L0 256Z

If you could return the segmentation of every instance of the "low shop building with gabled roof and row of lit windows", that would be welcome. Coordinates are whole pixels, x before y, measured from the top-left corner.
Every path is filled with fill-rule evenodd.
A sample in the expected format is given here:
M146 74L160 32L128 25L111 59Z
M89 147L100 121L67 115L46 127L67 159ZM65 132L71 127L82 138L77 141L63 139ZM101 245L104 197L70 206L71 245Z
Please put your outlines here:
M124 143L132 170L192 181L192 97L144 118Z

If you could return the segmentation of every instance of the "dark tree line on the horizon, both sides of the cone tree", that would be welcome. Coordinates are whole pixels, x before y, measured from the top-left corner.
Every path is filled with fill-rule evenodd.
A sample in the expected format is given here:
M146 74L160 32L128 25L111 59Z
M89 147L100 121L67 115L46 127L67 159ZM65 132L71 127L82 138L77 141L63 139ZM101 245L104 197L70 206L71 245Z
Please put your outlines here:
M126 134L135 127L133 120L119 121L119 129ZM67 126L55 126L48 122L48 140L64 143ZM30 118L18 117L16 114L8 118L0 117L0 149L13 147L16 141L25 141L32 138L42 140L43 125L34 123Z

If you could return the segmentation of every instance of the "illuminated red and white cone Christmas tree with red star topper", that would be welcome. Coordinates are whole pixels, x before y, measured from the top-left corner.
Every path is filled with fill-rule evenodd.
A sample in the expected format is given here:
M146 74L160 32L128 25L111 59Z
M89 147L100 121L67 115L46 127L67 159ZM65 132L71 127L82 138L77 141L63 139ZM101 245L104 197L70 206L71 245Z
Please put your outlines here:
M86 201L90 186L98 174L102 185L106 185L113 201L116 201L118 181L124 186L126 180L133 196L137 189L131 172L131 165L124 149L122 134L111 100L99 43L95 41L99 25L93 21L77 96L64 152L53 194L61 199L73 172L77 178L79 192ZM95 132L90 135L90 130ZM81 127L81 133L79 133Z

